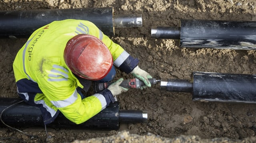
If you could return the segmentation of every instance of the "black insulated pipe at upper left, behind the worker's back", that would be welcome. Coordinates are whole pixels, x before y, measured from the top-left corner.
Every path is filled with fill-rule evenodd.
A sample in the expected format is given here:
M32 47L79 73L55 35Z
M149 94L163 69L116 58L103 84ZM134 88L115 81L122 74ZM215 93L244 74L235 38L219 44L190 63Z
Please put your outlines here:
M142 14L113 15L112 7L0 11L0 38L28 38L36 29L65 19L88 20L109 36L114 27L142 26Z

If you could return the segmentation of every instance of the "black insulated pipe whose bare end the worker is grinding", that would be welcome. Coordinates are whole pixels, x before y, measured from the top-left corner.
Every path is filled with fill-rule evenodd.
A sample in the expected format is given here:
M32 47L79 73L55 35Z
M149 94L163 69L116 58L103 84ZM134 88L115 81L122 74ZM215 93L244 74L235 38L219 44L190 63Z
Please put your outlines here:
M193 72L193 83L161 79L161 90L190 92L192 100L256 103L256 75Z

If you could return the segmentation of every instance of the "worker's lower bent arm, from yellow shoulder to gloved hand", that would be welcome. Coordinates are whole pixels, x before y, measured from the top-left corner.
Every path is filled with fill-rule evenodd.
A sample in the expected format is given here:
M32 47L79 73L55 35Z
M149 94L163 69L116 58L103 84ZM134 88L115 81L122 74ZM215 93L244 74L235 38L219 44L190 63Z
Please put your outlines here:
M52 65L51 62L43 61L41 70L38 72L38 86L46 96L46 104L52 104L62 114L74 123L83 123L101 110L105 109L110 102L114 102L114 96L125 91L119 88L118 82L110 85L109 89L81 99L78 94L76 78L72 72L60 65ZM121 87L121 86L120 86Z

